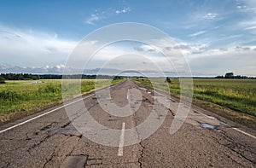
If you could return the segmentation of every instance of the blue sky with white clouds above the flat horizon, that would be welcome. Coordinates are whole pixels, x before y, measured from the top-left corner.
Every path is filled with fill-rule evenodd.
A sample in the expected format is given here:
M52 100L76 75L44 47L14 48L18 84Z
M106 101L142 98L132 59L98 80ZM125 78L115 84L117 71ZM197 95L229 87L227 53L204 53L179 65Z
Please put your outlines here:
M86 35L102 26L137 22L169 35L194 76L217 76L225 72L256 76L255 0L0 0L0 3L0 72L61 73L68 56ZM104 62L112 61L108 69L143 67L137 70L147 73L152 70L150 62L157 61L162 71L175 71L176 62L174 66L165 65L165 60L156 55L160 52L147 43L112 43L96 54L88 68L101 68ZM124 66L127 58L128 62L141 60L142 64ZM149 59L149 66L145 66L143 59Z

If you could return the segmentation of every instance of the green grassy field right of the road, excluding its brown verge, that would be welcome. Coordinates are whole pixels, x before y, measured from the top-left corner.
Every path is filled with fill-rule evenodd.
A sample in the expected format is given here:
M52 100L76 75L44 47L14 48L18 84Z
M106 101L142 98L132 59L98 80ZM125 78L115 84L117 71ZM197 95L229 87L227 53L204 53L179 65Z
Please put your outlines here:
M150 78L152 84L147 79L135 80L148 86L156 85L159 89L164 89L165 85L160 84L163 79L159 78ZM256 117L255 79L194 78L193 83L195 102ZM172 96L179 95L180 89L177 78L172 78L169 89Z

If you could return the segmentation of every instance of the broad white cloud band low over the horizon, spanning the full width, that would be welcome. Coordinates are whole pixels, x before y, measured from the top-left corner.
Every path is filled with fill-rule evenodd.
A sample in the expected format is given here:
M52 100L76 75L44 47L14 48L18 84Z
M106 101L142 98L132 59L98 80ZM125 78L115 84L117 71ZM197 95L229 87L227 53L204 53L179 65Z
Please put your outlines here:
M233 71L236 74L256 76L256 46L230 46L225 49L214 49L207 43L185 43L176 39L170 43L166 39L154 39L160 48L172 54L174 66L183 65L181 53L186 54L193 73L224 74ZM90 43L97 43L91 41ZM0 70L2 72L62 72L67 55L70 55L77 42L59 39L55 33L20 30L9 26L0 26ZM154 71L156 63L163 71L174 71L166 57L154 46L144 43L127 45L109 45L101 49L90 60L87 69L102 67L106 62L109 68L125 69L134 67L144 72ZM83 47L86 46L84 43ZM86 55L86 52L84 53ZM124 55L119 56L119 55ZM132 55L145 55L137 59ZM119 59L118 59L119 57ZM125 57L125 59L124 59ZM116 59L117 58L117 59ZM7 66L7 65L12 66ZM19 67L17 67L19 66Z

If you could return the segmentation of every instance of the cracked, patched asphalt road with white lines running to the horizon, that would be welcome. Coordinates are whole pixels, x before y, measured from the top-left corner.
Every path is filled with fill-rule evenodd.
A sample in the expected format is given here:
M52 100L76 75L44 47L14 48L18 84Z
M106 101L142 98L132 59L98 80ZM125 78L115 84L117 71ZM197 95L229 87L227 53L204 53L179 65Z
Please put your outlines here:
M131 80L110 90L111 98L102 90L67 107L75 116L73 119L83 121L87 112L80 103L84 102L98 124L104 125L105 130L118 132L107 134L106 141L102 140L102 143L110 141L109 144L113 140L113 144L118 143L116 147L83 136L82 133L91 134L92 125L80 133L65 108L58 106L0 126L0 167L256 167L255 130L192 107L181 128L171 135L176 100ZM131 131L133 136L126 134L124 130L143 124L153 109L155 122L166 114L154 134L143 139L143 131L154 124ZM124 116L115 116L118 113ZM84 121L84 125L89 123ZM93 135L102 137L100 132ZM128 140L137 143L125 146Z

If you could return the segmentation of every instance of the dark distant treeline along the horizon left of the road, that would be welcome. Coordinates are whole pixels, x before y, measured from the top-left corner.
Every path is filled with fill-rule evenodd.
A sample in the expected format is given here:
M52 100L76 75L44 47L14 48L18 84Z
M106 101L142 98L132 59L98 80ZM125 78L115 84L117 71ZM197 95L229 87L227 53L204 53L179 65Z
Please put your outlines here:
M61 74L32 74L32 73L1 73L0 78L5 80L38 80L38 79L61 79L61 78L124 78L122 76L109 76L109 75L85 75L85 74L72 74L62 76Z

